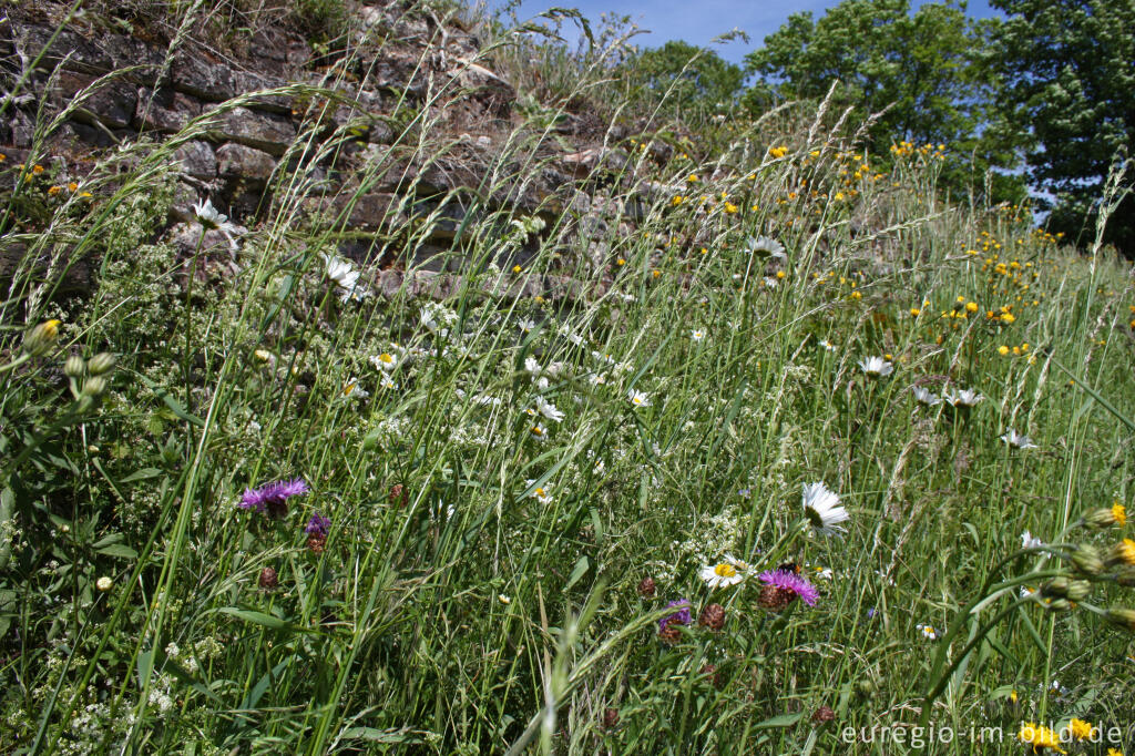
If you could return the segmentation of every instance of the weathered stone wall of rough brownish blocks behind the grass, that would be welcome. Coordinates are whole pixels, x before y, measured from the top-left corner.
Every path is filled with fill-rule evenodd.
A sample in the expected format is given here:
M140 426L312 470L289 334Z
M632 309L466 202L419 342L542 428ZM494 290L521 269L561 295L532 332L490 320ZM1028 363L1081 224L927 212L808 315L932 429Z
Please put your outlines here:
M516 92L474 34L431 12L360 5L339 54L317 56L295 33L267 28L235 56L82 16L60 28L60 9L45 8L2 11L0 81L14 93L0 117L8 165L51 160L57 175L82 183L100 151L177 138L183 188L171 222L203 196L249 227L294 202L295 222L348 230L344 254L398 275L456 267L461 235L502 210L548 220L566 210L594 236L588 244L628 222L623 203L592 196L612 177L633 180L625 153L606 146L623 134L568 117L503 160L523 127ZM36 145L36 124L52 119L57 128ZM422 124L436 149L419 149Z

